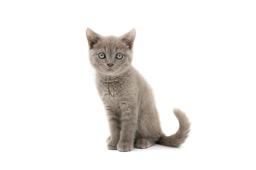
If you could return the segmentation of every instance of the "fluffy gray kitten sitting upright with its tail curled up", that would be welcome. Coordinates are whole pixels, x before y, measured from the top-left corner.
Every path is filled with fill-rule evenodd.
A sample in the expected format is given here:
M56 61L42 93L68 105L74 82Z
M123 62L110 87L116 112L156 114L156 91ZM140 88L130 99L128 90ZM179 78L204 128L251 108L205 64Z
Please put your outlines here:
M86 30L89 57L96 69L96 85L104 103L111 135L108 149L131 151L155 143L179 147L190 132L190 122L183 111L175 108L179 130L165 136L161 130L151 87L132 66L135 29L121 37L101 36Z

